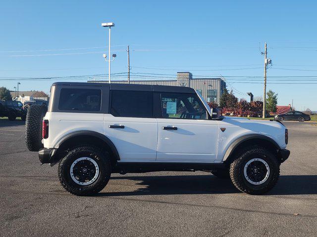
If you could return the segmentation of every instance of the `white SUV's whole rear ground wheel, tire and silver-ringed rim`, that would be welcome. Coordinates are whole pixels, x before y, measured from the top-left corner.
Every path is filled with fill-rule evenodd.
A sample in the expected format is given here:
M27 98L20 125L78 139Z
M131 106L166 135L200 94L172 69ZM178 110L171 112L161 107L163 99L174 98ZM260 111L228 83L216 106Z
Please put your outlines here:
M91 145L71 149L58 165L58 178L64 189L77 196L99 193L110 179L110 160Z

